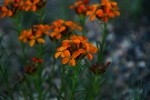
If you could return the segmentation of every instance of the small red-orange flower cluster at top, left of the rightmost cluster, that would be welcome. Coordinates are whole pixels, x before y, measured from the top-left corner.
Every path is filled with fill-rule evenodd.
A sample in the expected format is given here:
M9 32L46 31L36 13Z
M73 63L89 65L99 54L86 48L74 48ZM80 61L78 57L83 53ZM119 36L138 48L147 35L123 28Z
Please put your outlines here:
M89 8L88 4L89 0L77 0L70 8L74 9L77 14L86 15L86 11Z

